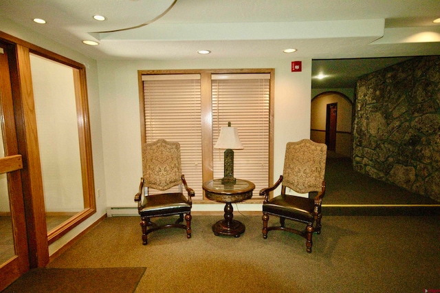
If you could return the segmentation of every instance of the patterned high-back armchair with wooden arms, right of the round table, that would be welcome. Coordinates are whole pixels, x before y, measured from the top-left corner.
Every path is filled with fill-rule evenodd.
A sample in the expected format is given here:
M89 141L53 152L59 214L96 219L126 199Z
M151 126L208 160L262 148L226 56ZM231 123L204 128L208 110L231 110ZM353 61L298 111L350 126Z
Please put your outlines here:
M321 203L325 195L325 163L327 146L300 140L288 142L285 152L283 175L269 188L260 191L263 201L263 238L270 230L293 232L306 239L307 252L311 252L312 235L321 231ZM270 199L270 192L281 184L281 195ZM289 195L287 188L296 192ZM307 197L300 195L305 194ZM268 227L269 215L280 218L279 226ZM306 224L305 230L287 227L285 219Z

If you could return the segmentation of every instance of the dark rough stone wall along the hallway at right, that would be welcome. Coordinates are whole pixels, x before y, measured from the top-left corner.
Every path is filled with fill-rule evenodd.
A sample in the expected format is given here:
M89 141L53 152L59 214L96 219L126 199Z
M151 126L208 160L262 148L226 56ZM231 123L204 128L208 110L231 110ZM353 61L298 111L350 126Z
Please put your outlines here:
M440 56L412 58L358 80L353 165L440 202Z

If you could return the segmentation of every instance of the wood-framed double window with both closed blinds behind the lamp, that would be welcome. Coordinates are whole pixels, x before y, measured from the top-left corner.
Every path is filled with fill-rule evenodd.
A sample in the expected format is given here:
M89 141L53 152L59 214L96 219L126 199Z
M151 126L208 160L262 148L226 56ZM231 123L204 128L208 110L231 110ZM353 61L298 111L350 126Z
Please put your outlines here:
M181 164L195 200L201 185L223 177L221 127L237 127L245 147L234 151L234 177L254 182L254 195L272 183L273 69L140 71L142 142L181 144ZM256 197L259 199L259 197Z

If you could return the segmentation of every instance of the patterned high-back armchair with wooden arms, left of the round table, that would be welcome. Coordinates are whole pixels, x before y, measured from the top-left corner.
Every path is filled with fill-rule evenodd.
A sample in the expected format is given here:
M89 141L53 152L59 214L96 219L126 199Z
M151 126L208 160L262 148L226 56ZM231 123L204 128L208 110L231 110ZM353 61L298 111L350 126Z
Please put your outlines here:
M164 228L182 228L186 237L191 237L191 197L195 195L186 184L181 173L180 144L156 140L146 143L142 148L143 177L139 191L135 195L137 210L140 214L142 227L142 243L147 244L147 235ZM187 196L182 193L182 186ZM149 191L151 192L149 194ZM168 193L162 193L168 191ZM175 223L157 225L151 221L154 217L170 217L178 215ZM186 225L181 224L186 220ZM151 227L148 228L147 227Z

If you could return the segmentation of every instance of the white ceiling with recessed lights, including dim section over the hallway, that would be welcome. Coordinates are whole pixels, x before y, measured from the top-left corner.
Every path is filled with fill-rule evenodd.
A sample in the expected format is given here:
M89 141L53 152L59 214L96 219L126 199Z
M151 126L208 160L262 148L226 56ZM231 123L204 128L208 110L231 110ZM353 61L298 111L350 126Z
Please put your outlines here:
M312 76L330 76L315 88L440 54L438 0L1 0L0 17L98 61L312 58Z

